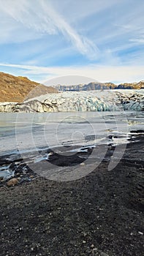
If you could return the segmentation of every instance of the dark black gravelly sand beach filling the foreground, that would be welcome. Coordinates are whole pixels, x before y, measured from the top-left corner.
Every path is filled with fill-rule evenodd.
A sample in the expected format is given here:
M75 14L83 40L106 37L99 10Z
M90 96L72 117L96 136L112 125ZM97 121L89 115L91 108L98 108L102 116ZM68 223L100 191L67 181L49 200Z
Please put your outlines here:
M144 137L134 140L113 170L112 147L77 181L50 181L29 170L25 179L15 173L23 182L14 187L1 182L1 256L143 255Z

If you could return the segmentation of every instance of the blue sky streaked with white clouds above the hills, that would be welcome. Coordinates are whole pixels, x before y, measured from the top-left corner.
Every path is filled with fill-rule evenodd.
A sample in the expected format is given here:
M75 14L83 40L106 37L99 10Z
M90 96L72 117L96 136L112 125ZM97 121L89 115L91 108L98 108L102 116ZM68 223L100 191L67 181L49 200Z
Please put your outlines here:
M0 0L0 71L144 80L143 12L143 0Z

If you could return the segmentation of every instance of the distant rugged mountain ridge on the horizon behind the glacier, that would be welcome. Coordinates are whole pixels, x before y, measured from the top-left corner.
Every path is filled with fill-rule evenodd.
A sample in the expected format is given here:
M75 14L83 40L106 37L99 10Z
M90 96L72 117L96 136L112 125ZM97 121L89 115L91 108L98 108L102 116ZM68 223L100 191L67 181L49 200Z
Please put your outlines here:
M93 91L93 90L107 90L107 89L144 89L144 81L139 83L121 83L116 86L114 83L99 83L91 82L88 84L67 85L67 86L53 86L58 91Z

